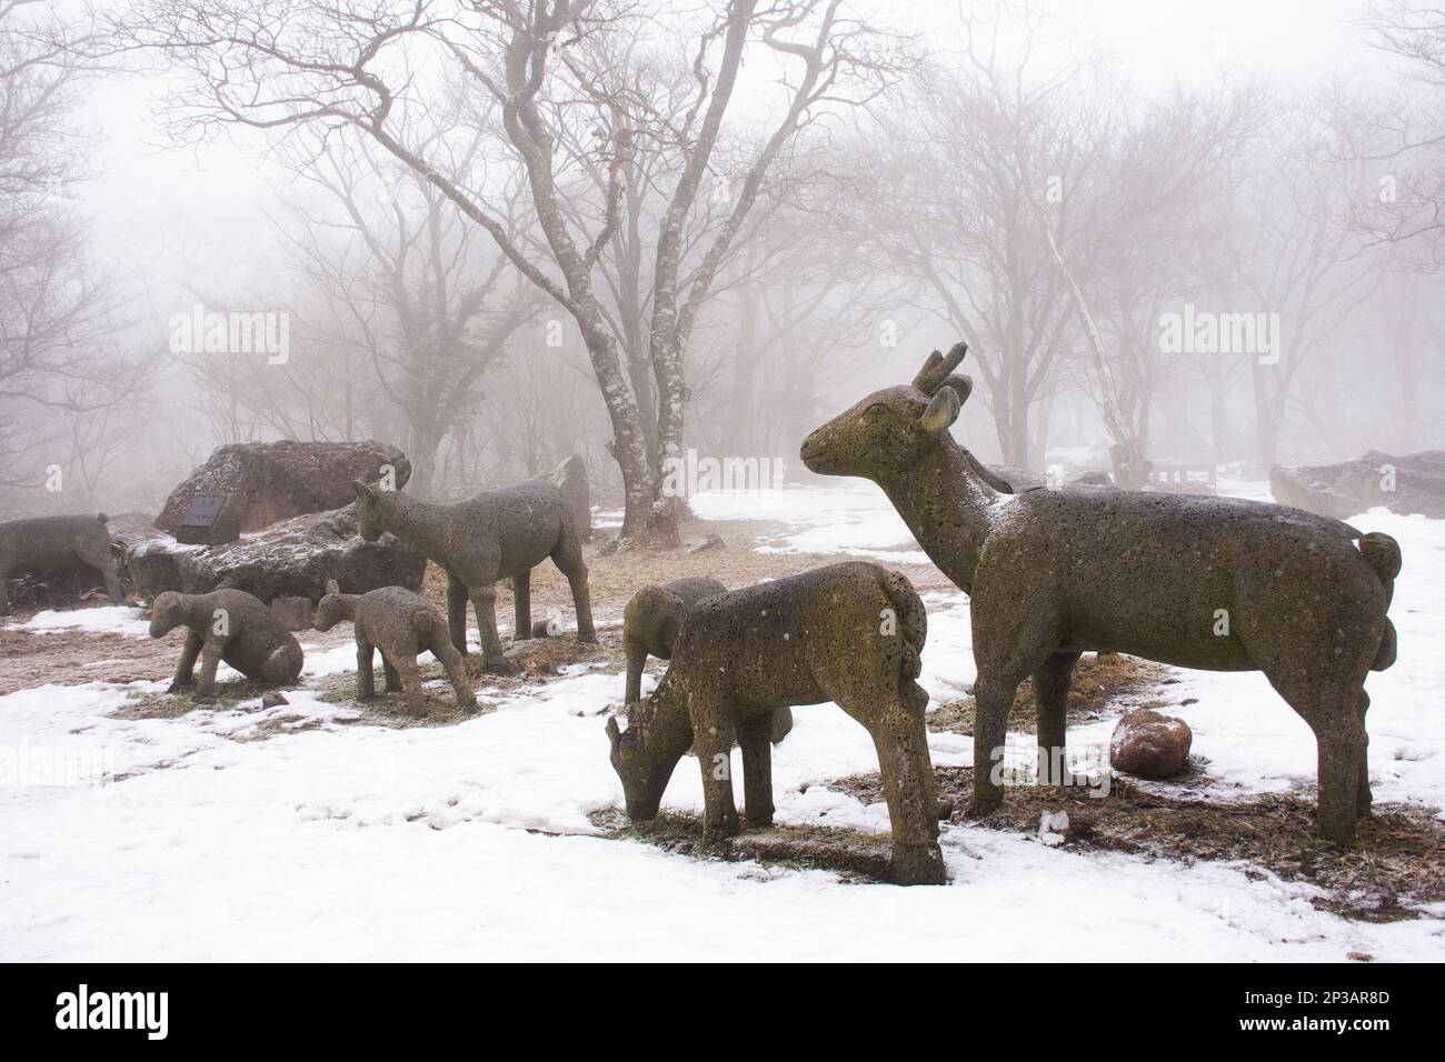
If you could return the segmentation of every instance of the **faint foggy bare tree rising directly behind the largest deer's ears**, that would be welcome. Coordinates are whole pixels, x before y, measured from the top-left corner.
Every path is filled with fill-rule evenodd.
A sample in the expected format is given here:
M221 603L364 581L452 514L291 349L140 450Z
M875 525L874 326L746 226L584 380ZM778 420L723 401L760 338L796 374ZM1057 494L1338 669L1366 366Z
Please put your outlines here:
M1058 62L1055 45L1051 17L1032 6L965 17L957 61L935 65L868 133L894 150L877 160L854 227L970 342L1003 459L1019 467L1032 464L1030 412L1056 386L1074 318L1032 207L1074 186L1081 163L1066 121L1079 64ZM1072 202L1052 201L1068 243Z

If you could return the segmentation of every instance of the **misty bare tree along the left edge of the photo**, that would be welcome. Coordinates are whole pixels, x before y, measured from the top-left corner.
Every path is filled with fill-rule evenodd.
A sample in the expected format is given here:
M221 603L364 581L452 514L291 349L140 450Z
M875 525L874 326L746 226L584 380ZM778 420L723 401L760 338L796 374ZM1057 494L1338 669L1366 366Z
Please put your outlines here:
M85 175L69 117L92 42L40 4L0 1L0 485L53 488L59 470L64 488L78 472L85 500L90 446L114 441L113 410L155 367L121 344L117 292L68 202Z

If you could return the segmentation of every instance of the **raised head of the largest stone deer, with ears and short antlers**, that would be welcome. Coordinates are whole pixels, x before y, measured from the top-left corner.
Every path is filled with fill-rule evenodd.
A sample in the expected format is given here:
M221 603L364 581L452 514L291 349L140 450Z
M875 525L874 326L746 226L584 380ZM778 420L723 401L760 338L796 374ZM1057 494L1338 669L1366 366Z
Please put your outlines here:
M822 475L861 475L879 481L913 467L933 446L951 442L949 425L974 381L954 373L968 344L928 355L907 387L873 392L803 439L803 464Z

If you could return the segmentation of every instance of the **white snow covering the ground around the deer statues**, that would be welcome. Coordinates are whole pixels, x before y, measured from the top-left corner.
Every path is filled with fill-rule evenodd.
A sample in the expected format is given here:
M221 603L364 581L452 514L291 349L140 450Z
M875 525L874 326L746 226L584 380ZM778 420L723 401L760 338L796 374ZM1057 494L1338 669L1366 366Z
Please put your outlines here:
M785 522L769 549L922 561L867 484L694 504L704 517ZM1355 523L1399 538L1406 564L1392 608L1400 660L1370 678L1376 799L1438 808L1445 522L1370 513ZM926 603L920 681L951 699L972 678L968 601ZM344 646L314 655L306 675L353 666ZM1218 795L1314 779L1308 730L1261 676L1179 676L1169 696L1198 698L1176 711ZM1445 910L1345 920L1314 909L1311 886L1257 870L1085 854L968 825L945 828L945 889L841 884L594 837L588 812L621 799L597 714L620 699L621 676L594 668L460 725L409 730L355 725L306 691L279 709L110 718L133 692L90 683L0 698L0 959L1445 957ZM779 819L887 829L881 805L825 785L876 770L867 734L828 705L795 715L775 751ZM293 733L246 740L267 720ZM1069 741L1101 746L1111 725ZM939 734L932 751L935 763L968 763L971 741ZM124 780L97 783L107 776ZM692 760L666 805L701 811Z

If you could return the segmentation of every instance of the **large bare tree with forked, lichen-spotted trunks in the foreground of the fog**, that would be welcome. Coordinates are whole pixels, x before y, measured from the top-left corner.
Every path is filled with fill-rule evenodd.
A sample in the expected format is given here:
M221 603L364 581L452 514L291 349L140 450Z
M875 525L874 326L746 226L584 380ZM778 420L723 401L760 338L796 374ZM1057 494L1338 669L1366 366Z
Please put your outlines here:
M696 35L689 120L675 130L683 166L669 175L673 184L666 192L652 279L649 342L659 390L656 436L663 454L681 446L683 358L692 322L769 168L819 110L848 98L851 78L871 84L889 69L871 46L873 35L861 23L841 17L840 6L840 0L730 0ZM238 123L283 130L306 124L328 134L361 133L486 230L506 259L555 299L581 332L611 420L629 536L646 520L657 480L621 364L621 338L601 309L595 272L621 223L624 173L636 130L627 124L630 113L617 87L603 77L605 71L587 65L584 43L637 33L647 14L634 4L594 0L415 0L405 6L374 0L348 9L303 4L277 23L260 0L143 0L116 19L113 29L133 45L159 49L192 75L186 91L173 100L179 127L205 131ZM750 42L801 72L783 81L788 105L746 170L731 212L705 246L683 292L682 228L722 134ZM436 91L419 71L439 61L460 71L468 91L478 91L500 108L497 133L525 170L545 254L530 253L497 217L484 175L448 170L447 160L429 153L426 144L405 139L402 116L409 108L425 108L428 92ZM566 201L571 159L559 149L559 124L572 123L598 131L605 157L607 191L592 225L579 225L581 212L569 210Z

